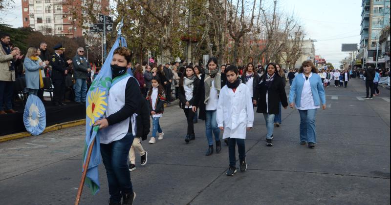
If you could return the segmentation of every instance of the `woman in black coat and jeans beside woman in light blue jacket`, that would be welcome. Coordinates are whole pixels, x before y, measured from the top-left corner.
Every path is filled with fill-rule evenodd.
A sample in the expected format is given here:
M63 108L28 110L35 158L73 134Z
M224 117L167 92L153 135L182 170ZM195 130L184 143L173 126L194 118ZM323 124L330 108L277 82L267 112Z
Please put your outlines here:
M260 78L257 91L254 92L254 104L258 104L257 112L263 113L266 121L267 135L266 145L273 146L274 117L279 113L280 102L284 109L288 106L286 93L282 84L282 78L277 72L276 64L267 65L267 71Z

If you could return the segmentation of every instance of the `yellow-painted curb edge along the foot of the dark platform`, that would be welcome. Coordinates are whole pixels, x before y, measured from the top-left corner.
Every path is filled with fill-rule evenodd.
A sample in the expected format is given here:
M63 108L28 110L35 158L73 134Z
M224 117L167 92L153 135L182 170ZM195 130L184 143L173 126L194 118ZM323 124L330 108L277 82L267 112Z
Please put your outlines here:
M76 121L71 121L71 122L66 122L66 123L54 124L54 125L46 127L42 133L52 132L52 131L56 131L59 129L74 127L74 126L78 126L78 125L85 125L85 124L86 124L86 119L76 120ZM21 139L21 138L25 138L25 137L30 137L30 136L33 136L33 135L31 135L28 132L20 132L20 133L15 133L15 134L4 135L4 136L0 136L0 143L5 142L5 141L9 141L9 140L16 140L16 139Z

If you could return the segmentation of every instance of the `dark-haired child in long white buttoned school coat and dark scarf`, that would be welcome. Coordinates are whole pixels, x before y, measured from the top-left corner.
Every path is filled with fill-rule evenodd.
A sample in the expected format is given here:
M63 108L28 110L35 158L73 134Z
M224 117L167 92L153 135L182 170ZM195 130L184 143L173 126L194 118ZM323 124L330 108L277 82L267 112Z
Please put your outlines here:
M224 130L223 139L228 138L229 168L227 176L237 172L235 146L238 144L240 171L247 169L244 140L246 130L254 122L251 92L247 85L240 83L238 68L230 65L225 69L227 85L221 88L217 103L217 126Z

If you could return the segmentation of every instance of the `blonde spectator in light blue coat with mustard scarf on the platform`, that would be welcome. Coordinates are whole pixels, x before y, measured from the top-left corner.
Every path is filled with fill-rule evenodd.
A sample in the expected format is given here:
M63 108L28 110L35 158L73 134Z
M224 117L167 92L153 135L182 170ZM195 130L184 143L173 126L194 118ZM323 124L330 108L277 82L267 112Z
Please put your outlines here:
M43 62L39 61L37 56L37 48L30 47L27 50L24 58L24 70L26 78L26 87L28 88L28 95L38 95L38 90L43 87L41 81L41 69L43 69Z

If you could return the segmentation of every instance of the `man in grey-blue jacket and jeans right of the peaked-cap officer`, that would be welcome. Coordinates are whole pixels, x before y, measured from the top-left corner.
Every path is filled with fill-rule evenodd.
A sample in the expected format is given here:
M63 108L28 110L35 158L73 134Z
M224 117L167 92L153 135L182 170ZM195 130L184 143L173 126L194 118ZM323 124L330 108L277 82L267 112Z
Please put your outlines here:
M84 48L80 47L76 51L76 56L73 57L73 78L76 79L75 84L75 101L78 104L86 102L87 96L87 73L91 71L87 58L84 57Z

